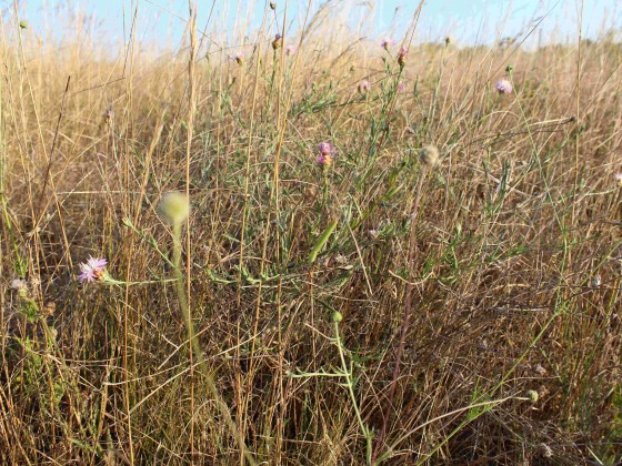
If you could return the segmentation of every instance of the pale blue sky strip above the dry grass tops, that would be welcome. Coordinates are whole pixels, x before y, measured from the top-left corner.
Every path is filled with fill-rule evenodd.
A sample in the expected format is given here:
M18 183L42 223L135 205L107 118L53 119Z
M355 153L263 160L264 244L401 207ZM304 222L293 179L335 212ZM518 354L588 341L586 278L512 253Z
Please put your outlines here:
M595 38L603 30L622 27L622 1L620 0L583 0L583 34ZM3 3L3 4L2 4ZM7 11L11 1L0 4ZM51 31L56 37L74 33L74 26L62 21L63 11L71 8L91 17L89 26L101 32L101 38L112 43L122 39L123 22L130 23L130 12L137 0L21 0L20 16L27 19L31 29L44 37ZM215 0L215 8L210 18L212 0L199 0L199 28L208 24L227 31L229 40L234 43L241 40L240 31L249 31L248 24L257 27L261 22L264 1L260 0ZM312 1L312 11L323 1ZM349 23L352 30L365 37L383 37L385 34L400 39L413 11L417 0L332 0L333 17ZM139 38L146 43L175 47L184 32L188 18L185 0L138 0ZM285 0L277 0L277 12L282 18ZM308 2L289 0L288 26L290 32L300 29ZM442 40L448 34L460 43L491 43L500 37L519 36L529 30L542 16L542 32L534 33L531 43L538 39L558 41L575 40L578 30L578 9L581 0L427 0L418 27L418 40ZM123 16L124 14L124 16ZM66 16L66 14L64 14ZM238 20L238 21L235 21ZM242 20L242 21L241 21ZM243 23L240 24L240 21ZM358 24L364 23L362 30ZM235 24L238 27L235 28ZM277 26L272 24L277 30Z

